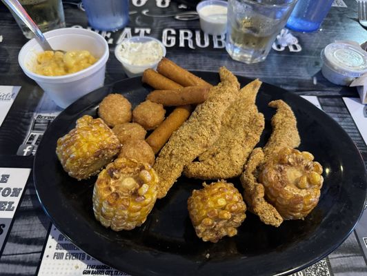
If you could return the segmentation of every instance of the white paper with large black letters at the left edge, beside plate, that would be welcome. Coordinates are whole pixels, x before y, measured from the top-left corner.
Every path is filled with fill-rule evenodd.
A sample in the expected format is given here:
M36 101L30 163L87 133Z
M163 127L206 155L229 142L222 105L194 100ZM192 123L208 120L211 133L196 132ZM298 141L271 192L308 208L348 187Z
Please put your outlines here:
M29 175L30 168L0 168L0 256Z

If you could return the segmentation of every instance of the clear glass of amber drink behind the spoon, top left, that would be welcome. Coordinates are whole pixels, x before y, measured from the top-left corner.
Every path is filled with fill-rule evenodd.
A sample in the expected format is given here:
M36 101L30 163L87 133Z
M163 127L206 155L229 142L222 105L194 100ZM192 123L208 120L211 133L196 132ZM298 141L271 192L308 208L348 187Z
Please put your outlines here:
M61 0L19 0L21 6L28 12L30 17L39 26L42 32L65 27L63 15L63 4ZM12 12L24 36L28 39L34 34L28 27Z

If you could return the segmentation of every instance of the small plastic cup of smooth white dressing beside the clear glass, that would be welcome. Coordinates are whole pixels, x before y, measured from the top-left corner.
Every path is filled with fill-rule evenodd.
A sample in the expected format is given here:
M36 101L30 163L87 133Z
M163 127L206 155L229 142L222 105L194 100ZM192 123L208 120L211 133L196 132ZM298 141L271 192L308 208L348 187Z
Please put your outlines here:
M199 14L201 30L212 35L225 34L227 29L227 7L228 2L220 0L201 1L197 4L196 10ZM216 8L221 8L223 11Z

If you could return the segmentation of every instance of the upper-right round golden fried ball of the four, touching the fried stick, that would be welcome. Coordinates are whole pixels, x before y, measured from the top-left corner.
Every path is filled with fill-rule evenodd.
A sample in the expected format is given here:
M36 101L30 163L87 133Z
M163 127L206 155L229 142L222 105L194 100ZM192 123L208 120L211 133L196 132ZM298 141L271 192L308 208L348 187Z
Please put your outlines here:
M161 103L143 101L132 110L132 121L135 121L146 130L154 130L164 120L166 110Z

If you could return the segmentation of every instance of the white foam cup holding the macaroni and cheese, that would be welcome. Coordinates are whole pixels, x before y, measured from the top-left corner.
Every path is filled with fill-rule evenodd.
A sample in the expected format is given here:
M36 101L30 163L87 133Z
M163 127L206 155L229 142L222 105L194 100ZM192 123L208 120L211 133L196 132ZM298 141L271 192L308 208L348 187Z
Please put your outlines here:
M37 55L43 52L35 39L31 39L20 50L18 61L23 72L60 106L66 108L83 95L103 86L106 62L109 56L106 39L97 32L81 28L61 28L45 32L45 37L54 49L88 50L98 61L92 66L69 75L48 77L34 73Z

